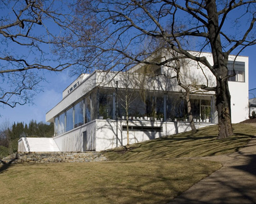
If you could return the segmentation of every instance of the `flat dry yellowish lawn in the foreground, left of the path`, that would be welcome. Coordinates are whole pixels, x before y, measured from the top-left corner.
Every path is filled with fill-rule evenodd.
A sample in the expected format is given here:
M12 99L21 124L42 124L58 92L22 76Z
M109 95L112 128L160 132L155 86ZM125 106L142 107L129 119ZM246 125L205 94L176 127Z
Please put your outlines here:
M166 203L221 164L201 160L16 164L0 203Z

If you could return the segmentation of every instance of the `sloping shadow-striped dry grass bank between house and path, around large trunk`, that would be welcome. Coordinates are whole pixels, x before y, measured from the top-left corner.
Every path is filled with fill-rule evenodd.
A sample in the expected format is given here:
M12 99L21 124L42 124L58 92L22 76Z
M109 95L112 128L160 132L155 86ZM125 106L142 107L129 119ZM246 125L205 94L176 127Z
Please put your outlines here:
M131 145L130 150L122 147L106 151L110 160L151 160L184 157L205 157L230 154L244 147L256 133L255 127L239 123L233 124L234 135L217 140L217 125L199 129L197 133L181 133L161 139Z

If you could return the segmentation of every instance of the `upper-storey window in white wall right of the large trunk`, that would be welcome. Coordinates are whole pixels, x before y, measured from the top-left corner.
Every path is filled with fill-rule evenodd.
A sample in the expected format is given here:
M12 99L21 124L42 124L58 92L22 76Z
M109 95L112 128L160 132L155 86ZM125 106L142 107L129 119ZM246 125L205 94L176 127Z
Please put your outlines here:
M228 61L227 63L228 75L233 74L233 61ZM234 71L236 75L228 78L231 82L245 82L245 63L244 62L234 62Z

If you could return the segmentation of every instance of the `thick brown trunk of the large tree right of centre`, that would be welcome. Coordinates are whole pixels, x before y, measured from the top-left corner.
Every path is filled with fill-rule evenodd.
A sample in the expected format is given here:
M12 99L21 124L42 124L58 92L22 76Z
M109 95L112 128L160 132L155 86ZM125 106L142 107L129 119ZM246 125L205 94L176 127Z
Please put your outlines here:
M212 52L212 59L216 77L216 107L218 111L218 129L217 139L224 139L233 134L230 117L230 94L227 82L227 61L228 56L223 53L221 38L219 33L219 18L215 0L206 1L206 10L209 16L207 23L208 39Z

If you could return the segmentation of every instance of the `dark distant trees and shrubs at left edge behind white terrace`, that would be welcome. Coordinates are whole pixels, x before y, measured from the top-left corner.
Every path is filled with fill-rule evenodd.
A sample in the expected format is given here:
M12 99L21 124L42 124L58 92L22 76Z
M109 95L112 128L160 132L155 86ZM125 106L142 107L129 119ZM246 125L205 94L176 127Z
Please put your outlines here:
M24 122L13 125L2 124L0 128L0 159L18 149L18 140L22 137L52 137L54 135L53 123L46 124L31 120L29 124Z

